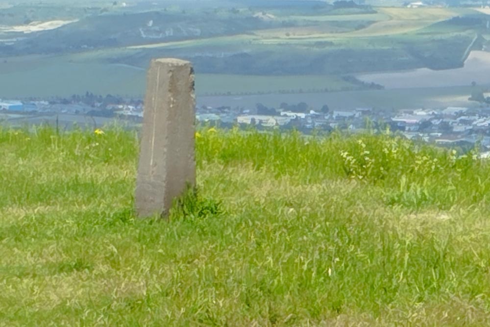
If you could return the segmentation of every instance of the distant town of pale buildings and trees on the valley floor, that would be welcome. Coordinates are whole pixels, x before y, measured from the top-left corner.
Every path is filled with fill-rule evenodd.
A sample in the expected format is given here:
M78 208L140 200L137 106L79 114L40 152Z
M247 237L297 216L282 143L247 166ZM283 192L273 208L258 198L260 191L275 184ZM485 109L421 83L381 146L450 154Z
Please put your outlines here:
M0 125L25 127L56 124L57 128L98 128L114 122L137 128L143 120L141 99L95 96L86 93L69 99L13 101L0 100ZM254 107L196 107L196 121L210 126L255 126L258 129L297 129L314 131L346 130L365 132L386 130L408 139L443 146L470 148L476 143L490 151L490 108L407 108L374 110L363 107L351 110L311 107L308 103L280 103L277 108L257 103Z

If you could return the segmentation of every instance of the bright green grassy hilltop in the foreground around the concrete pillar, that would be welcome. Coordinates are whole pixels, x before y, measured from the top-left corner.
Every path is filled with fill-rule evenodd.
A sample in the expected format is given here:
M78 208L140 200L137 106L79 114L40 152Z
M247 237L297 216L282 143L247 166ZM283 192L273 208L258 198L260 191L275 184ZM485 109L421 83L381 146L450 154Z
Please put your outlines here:
M202 129L169 221L133 216L137 152L118 127L0 129L0 326L490 323L475 152Z

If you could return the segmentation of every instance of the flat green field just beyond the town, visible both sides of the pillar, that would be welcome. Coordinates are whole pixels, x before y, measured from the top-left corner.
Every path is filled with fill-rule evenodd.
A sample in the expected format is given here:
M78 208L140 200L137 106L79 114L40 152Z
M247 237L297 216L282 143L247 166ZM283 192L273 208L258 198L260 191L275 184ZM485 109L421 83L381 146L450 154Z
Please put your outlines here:
M146 68L74 61L72 58L38 56L26 57L25 60L8 58L6 63L0 62L0 98L69 97L86 91L129 97L142 97L145 93ZM338 76L328 75L196 75L197 95L307 92L312 89L340 91L356 88L359 86Z

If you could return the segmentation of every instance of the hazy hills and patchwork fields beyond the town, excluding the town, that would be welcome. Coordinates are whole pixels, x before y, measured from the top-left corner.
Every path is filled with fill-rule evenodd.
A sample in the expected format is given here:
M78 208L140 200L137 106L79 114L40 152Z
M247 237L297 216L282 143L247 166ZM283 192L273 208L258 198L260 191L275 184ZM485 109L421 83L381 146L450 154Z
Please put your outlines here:
M486 1L87 0L68 6L15 0L0 6L1 97L86 91L141 97L152 57L191 60L200 96L382 86L431 87L437 98L460 86L450 92L456 99L472 81L490 84ZM444 78L440 70L448 70Z

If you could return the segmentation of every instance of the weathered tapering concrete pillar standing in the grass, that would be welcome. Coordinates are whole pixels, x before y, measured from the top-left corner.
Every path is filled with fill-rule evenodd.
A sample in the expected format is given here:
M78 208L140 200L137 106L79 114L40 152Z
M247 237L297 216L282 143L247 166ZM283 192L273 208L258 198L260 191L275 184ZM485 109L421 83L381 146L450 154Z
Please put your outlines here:
M194 70L179 59L153 59L147 75L135 207L140 218L165 217L196 184Z

